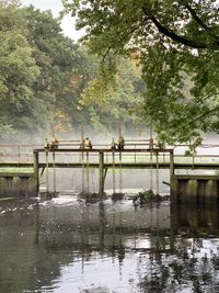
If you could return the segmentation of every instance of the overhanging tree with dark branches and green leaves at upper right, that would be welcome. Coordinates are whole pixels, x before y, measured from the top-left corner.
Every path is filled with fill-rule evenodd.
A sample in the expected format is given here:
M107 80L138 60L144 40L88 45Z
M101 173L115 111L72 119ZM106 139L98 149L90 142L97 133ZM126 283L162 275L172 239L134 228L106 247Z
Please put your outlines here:
M188 142L200 131L219 129L218 1L62 2L103 61L112 54L140 60L147 84L142 114L162 139Z

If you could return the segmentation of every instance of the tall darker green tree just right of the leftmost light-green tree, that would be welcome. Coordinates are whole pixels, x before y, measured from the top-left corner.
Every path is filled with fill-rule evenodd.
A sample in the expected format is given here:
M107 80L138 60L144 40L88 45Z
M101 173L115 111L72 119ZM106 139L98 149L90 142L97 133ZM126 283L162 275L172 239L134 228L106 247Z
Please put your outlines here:
M79 93L83 83L82 56L79 46L65 37L60 20L51 12L34 7L25 9L28 42L41 75L34 86L31 128L70 129L80 123Z

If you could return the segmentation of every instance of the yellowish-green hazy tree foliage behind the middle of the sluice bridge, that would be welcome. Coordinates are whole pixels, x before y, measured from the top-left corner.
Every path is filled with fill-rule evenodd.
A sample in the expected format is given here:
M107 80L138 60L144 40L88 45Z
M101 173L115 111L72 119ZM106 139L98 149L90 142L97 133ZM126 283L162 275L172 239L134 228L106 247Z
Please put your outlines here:
M130 60L117 59L117 67L113 76L97 71L81 94L81 106L89 108L96 128L103 125L115 128L119 123L129 125L138 121L136 109L142 101L143 81Z

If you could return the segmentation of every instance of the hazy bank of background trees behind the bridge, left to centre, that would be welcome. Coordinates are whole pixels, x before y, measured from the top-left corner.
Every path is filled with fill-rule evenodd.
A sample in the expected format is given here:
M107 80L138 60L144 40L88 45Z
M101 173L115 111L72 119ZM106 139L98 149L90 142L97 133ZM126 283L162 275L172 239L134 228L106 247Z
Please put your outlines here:
M145 87L135 63L118 59L106 89L100 59L66 37L51 12L0 2L0 139L138 121Z

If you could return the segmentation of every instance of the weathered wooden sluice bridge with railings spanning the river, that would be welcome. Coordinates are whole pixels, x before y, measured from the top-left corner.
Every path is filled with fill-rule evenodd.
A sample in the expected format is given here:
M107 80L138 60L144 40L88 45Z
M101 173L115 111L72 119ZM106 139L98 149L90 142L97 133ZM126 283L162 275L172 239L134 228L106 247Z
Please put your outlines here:
M26 178L32 178L34 193L37 194L41 173L44 170L97 168L99 193L103 194L108 169L169 169L173 199L187 200L189 195L189 199L193 198L196 201L198 192L204 194L201 196L208 193L208 195L214 194L214 198L218 198L219 176L217 172L209 173L209 171L219 169L219 155L217 154L188 157L184 154L176 154L176 147L162 149L152 146L151 148L148 139L130 140L122 150L111 149L110 145L94 145L92 149L80 149L79 143L79 140L60 143L58 149L53 150L33 145L0 145L0 182L5 181L5 178L25 178L26 176ZM219 150L217 145L201 147L215 149L218 147ZM200 170L200 173L194 174L194 170ZM204 170L206 170L205 173ZM2 185L5 187L5 182L1 182L0 187Z

